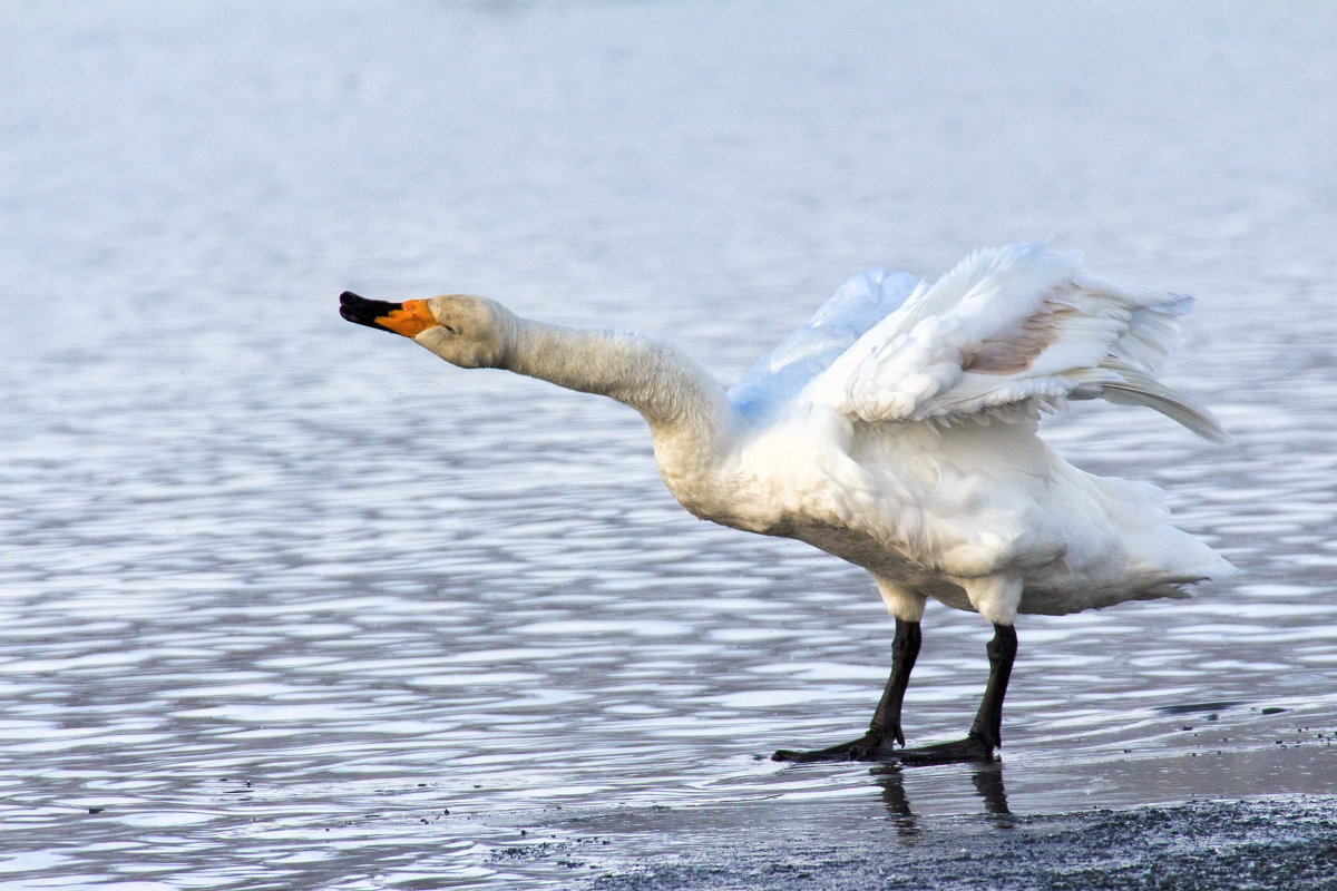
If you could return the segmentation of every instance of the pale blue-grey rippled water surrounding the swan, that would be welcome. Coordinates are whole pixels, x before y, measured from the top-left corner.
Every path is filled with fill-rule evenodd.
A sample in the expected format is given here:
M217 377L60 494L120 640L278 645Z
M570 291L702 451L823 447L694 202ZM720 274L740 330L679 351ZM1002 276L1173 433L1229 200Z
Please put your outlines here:
M8 4L0 39L5 887L570 887L742 827L1337 792L1326 7ZM689 517L630 410L334 309L472 290L731 379L858 269L1046 235L1199 295L1169 377L1233 446L1050 437L1242 573L1027 617L988 771L757 760L866 721L868 578ZM913 739L965 727L987 632L931 608Z

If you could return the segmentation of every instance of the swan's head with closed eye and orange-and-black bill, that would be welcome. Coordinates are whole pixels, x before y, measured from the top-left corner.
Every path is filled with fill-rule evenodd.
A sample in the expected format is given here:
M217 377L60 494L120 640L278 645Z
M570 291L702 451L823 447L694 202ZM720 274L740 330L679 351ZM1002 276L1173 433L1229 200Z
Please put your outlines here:
M461 369L504 367L515 334L515 315L508 309L467 294L390 303L344 291L340 315L412 338Z

